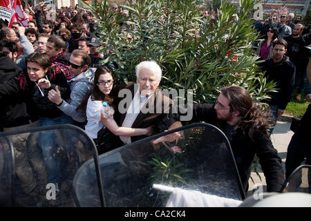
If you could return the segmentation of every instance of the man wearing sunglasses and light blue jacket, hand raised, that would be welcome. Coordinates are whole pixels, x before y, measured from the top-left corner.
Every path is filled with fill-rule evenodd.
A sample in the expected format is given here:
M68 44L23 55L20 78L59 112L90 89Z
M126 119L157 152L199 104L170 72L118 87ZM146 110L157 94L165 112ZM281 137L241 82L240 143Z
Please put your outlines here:
M91 59L84 50L73 50L69 62L70 75L73 75L73 78L68 81L71 90L70 99L67 101L62 99L58 88L49 91L48 99L55 103L59 110L72 117L73 124L84 128L86 113L82 109L78 111L76 109L91 89L95 73L92 68L89 68Z

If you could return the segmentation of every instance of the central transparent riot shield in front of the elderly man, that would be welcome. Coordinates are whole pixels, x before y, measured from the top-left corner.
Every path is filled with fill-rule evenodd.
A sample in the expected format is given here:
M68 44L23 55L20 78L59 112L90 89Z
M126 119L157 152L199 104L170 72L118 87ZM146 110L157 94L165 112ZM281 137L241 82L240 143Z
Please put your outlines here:
M162 137L179 137L154 144ZM73 182L81 206L100 206L93 160ZM105 206L166 206L170 193L153 184L243 200L245 193L227 137L210 124L191 124L100 155Z

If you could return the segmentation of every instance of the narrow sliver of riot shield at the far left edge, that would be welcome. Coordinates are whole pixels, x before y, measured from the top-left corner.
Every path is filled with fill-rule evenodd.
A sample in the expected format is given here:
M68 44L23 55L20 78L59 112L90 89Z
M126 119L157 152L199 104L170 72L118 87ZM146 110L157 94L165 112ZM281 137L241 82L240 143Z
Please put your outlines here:
M14 151L10 140L6 137L0 137L0 206L12 204L14 164Z

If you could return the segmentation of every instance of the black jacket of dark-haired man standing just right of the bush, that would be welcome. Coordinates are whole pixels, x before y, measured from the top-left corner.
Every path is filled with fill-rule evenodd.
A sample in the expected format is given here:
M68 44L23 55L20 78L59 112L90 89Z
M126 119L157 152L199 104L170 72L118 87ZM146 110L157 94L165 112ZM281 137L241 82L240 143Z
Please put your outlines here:
M296 72L294 64L284 55L282 61L278 63L274 63L273 59L266 59L265 62L261 63L261 70L266 71L267 81L276 82L278 90L269 94L272 99L267 103L277 105L280 109L285 110L294 90Z

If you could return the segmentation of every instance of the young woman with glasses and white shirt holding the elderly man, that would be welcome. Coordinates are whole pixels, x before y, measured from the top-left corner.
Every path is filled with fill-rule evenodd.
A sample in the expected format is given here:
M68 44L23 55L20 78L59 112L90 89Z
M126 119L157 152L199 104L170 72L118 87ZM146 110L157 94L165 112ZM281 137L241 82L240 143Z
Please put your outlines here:
M77 109L86 109L87 124L85 126L85 131L93 138L99 154L118 147L112 144L113 139L115 140L115 138L113 138L114 135L151 135L152 132L151 127L119 127L114 119L104 119L105 124L100 122L102 103L106 102L113 108L114 101L117 99L117 92L118 89L113 70L107 66L99 66L95 71L93 87L77 107ZM106 128L108 128L108 130Z

